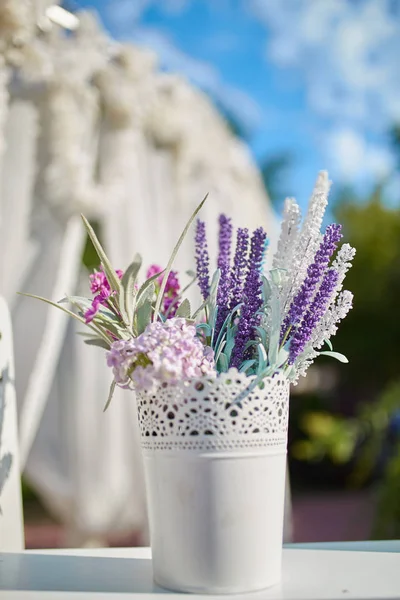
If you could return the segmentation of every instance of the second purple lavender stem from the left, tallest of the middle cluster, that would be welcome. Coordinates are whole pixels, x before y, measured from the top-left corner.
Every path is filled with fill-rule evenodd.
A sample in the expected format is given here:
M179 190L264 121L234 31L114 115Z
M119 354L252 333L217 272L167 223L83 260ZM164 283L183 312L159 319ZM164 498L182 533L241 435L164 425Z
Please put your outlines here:
M219 253L218 268L221 271L217 291L217 320L215 323L214 339L218 339L221 327L229 314L230 296L230 270L231 270L231 245L232 245L232 221L225 215L219 217Z

